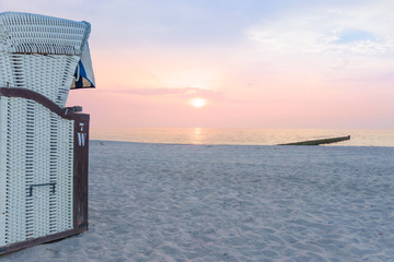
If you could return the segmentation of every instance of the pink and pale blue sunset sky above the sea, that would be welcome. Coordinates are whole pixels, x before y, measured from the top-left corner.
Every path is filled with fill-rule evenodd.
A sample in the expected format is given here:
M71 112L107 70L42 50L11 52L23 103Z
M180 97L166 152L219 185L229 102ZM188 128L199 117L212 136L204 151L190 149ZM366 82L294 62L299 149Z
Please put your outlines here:
M394 129L392 0L0 0L92 25L92 128Z

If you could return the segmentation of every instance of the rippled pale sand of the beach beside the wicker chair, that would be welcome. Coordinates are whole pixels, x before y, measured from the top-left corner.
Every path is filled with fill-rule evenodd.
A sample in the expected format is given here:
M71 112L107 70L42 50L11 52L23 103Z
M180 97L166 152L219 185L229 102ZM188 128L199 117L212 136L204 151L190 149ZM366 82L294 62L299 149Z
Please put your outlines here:
M91 143L90 230L1 261L394 261L394 147Z

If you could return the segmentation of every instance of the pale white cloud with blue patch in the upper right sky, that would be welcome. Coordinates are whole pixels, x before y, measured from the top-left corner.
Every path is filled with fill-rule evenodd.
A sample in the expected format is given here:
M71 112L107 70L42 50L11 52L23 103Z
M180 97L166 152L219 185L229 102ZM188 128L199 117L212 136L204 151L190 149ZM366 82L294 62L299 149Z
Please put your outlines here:
M306 14L264 21L251 26L246 36L258 43L262 50L278 53L392 55L392 11L393 8L386 9L384 4L315 9Z

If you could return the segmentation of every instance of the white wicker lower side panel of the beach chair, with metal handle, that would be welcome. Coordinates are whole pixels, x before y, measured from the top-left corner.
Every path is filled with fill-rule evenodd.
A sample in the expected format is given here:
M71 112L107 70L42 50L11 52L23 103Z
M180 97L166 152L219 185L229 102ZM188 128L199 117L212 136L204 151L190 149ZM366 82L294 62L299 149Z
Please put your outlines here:
M71 229L73 120L19 97L0 114L0 246Z

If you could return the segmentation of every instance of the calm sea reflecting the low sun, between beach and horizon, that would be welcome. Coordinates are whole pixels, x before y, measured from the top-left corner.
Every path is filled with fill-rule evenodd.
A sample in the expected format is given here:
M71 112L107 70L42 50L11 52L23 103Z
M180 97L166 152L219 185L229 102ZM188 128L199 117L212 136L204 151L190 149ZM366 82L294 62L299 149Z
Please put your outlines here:
M169 144L275 145L351 135L331 145L394 146L394 130L269 130L269 129L92 129L91 140Z

